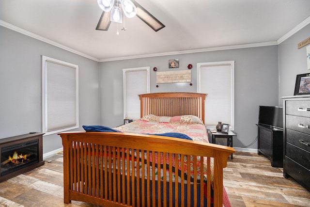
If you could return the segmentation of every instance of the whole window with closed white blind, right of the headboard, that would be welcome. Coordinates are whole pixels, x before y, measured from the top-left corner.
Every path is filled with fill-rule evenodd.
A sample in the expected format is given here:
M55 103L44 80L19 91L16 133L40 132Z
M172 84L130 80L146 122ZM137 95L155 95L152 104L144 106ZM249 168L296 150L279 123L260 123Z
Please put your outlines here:
M205 125L220 121L234 130L234 61L198 63L197 92L206 93Z

